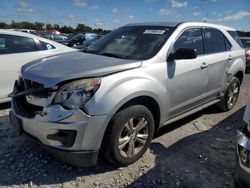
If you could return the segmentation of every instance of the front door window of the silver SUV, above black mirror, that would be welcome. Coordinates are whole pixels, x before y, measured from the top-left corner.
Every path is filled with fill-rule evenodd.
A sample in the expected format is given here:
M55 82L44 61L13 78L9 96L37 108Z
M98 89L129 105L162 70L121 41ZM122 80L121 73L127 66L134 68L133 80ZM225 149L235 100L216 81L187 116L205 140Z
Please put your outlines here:
M203 54L202 30L191 28L184 31L174 43L174 52L178 48L196 49L197 55Z

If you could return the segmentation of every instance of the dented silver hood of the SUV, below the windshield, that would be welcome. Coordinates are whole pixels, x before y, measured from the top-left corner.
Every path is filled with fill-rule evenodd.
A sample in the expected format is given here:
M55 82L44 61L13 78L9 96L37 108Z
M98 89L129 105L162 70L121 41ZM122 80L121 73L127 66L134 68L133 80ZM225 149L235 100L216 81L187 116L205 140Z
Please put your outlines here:
M60 82L99 77L140 67L138 60L125 60L83 52L68 52L25 64L21 69L24 79L53 87Z

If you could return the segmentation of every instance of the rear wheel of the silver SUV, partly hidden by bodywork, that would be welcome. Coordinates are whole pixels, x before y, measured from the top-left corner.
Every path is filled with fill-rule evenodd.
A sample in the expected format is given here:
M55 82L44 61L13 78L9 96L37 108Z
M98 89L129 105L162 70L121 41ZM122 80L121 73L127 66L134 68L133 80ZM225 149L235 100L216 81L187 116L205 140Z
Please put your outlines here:
M231 99L233 101L230 102L230 97L232 95L232 92L236 90L237 93L233 94L233 99ZM240 80L237 77L233 77L231 83L227 87L223 99L217 104L217 107L225 112L231 110L235 106L238 100L239 93L240 93Z

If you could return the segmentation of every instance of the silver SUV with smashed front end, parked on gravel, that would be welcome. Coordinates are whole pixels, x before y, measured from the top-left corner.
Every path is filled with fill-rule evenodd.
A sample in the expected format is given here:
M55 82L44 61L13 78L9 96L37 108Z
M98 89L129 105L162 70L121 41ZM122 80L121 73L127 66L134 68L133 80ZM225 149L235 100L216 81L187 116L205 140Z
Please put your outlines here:
M208 23L125 25L89 46L22 67L12 97L19 132L59 159L129 165L162 126L235 105L245 72L236 31Z

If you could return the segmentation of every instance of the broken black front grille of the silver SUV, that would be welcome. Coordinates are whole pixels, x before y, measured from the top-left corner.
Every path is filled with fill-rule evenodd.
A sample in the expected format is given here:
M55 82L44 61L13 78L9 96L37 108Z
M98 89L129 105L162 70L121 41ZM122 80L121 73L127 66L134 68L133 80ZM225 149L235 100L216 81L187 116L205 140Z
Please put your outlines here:
M43 107L33 105L27 102L26 95L47 98L50 95L49 89L44 88L42 84L30 80L19 78L15 82L13 91L13 107L15 112L23 117L34 118L36 114L40 114Z

